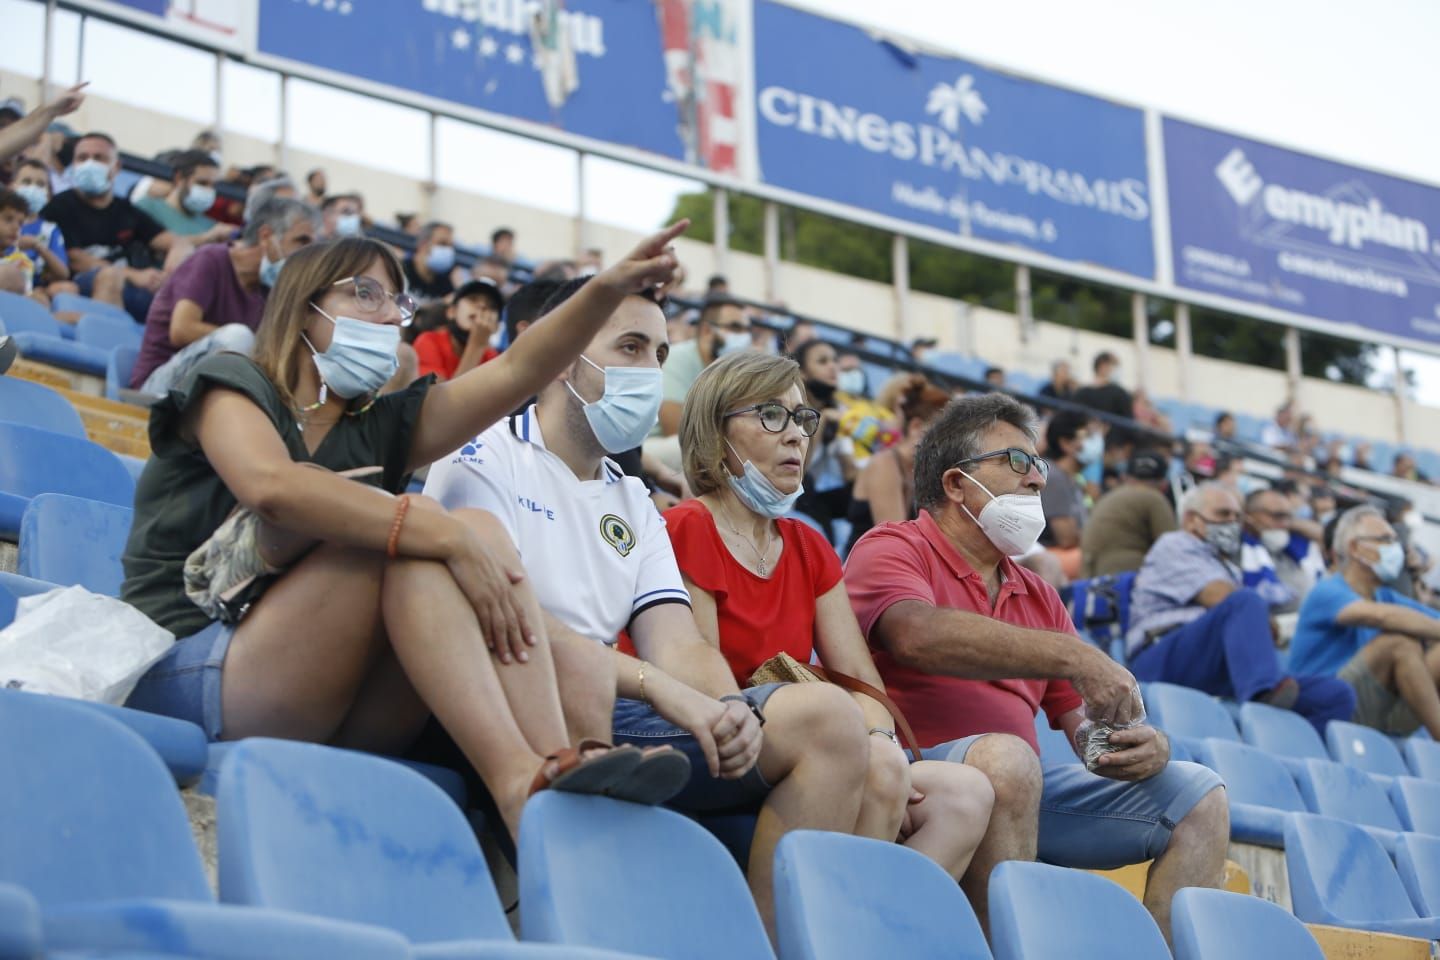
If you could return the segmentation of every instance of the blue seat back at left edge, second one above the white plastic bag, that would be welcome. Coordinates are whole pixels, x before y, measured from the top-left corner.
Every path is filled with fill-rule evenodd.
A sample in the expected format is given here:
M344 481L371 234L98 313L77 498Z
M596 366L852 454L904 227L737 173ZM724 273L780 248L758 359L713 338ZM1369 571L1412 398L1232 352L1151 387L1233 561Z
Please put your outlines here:
M130 507L135 481L105 448L73 436L0 420L0 492L69 494Z

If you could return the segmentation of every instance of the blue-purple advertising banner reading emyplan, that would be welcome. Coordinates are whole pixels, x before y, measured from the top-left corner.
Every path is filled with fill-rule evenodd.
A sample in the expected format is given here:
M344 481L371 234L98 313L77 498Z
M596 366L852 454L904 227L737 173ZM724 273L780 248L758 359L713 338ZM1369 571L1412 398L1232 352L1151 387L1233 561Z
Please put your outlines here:
M1165 119L1175 284L1440 343L1440 189Z

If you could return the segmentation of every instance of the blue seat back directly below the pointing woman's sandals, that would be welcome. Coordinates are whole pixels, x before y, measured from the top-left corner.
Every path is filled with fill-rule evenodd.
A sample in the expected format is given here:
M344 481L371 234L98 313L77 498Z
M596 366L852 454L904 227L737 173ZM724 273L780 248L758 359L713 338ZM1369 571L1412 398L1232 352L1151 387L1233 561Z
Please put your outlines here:
M775 956L730 853L660 807L536 794L520 822L520 902L526 940L685 960Z

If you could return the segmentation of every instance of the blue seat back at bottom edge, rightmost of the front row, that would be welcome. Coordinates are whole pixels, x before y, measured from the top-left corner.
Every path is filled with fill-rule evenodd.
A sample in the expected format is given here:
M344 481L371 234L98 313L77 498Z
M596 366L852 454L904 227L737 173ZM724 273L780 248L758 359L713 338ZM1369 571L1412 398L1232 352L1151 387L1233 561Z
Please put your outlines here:
M1299 920L1260 897L1187 887L1171 905L1175 960L1325 960Z

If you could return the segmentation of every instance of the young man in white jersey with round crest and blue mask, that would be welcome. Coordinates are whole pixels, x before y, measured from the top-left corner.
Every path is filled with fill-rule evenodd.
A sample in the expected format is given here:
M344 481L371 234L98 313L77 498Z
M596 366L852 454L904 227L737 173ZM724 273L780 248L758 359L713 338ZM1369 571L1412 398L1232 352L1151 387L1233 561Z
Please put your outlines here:
M546 311L583 282L560 288ZM747 874L769 924L776 842L788 829L854 828L868 744L858 735L863 724L850 737L834 723L855 708L838 687L737 689L720 651L696 628L645 485L606 456L639 446L655 425L667 353L661 308L626 296L533 407L435 463L425 492L446 508L490 511L508 531L524 583L546 612L567 708L570 678L613 671L622 698L613 737L671 744L691 759L691 782L672 806L757 812ZM644 659L613 649L621 630ZM576 735L612 734L609 711L572 712Z

